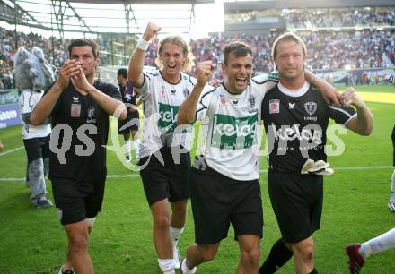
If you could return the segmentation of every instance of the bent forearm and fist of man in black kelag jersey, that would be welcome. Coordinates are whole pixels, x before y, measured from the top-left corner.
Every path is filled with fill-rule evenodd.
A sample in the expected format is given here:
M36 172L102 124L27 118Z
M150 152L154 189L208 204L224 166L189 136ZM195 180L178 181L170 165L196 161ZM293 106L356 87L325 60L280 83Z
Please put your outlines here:
M356 109L356 116L348 121L347 128L360 135L370 135L373 132L373 115L364 100L353 88L345 90L342 98L347 102L347 107L353 106Z

